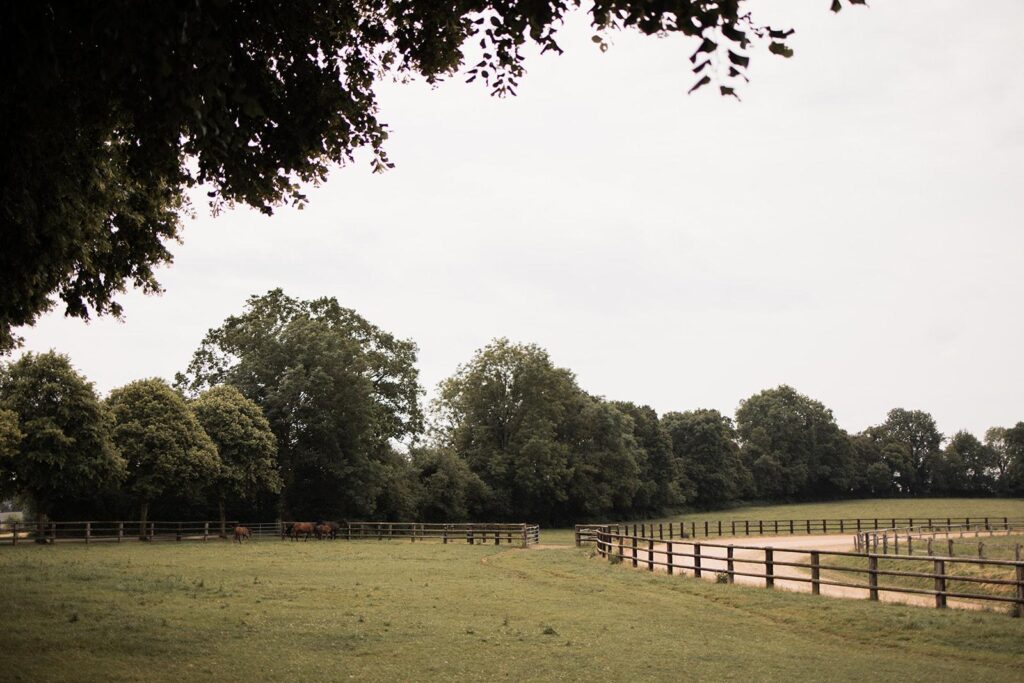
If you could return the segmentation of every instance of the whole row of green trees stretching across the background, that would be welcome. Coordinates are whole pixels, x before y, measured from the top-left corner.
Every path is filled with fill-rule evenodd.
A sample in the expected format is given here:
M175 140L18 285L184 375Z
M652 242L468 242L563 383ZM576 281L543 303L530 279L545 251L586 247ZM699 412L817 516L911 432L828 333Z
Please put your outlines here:
M274 290L172 385L105 399L57 353L0 369L0 495L41 518L559 523L741 500L1024 496L1024 422L948 439L895 409L859 434L791 387L658 416L496 340L424 415L416 345Z

